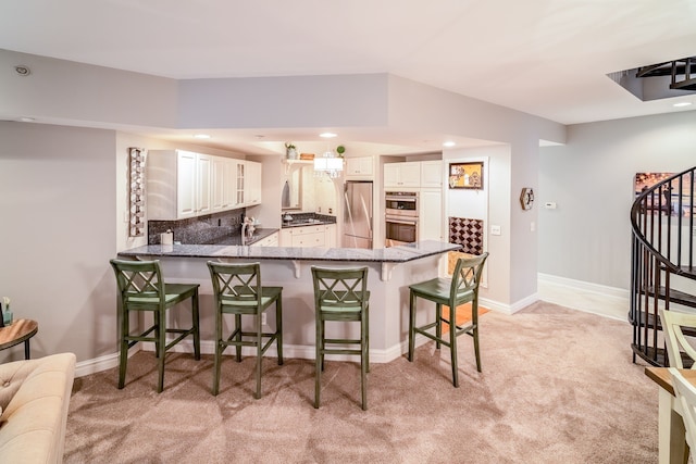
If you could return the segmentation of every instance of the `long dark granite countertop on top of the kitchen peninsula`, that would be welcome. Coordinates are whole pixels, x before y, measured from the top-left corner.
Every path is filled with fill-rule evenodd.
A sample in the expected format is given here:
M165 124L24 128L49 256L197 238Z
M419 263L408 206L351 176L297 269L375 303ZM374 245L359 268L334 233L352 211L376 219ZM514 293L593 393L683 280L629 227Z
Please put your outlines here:
M266 230L266 229L261 229ZM277 229L272 229L277 230ZM271 233L272 234L272 233ZM269 234L270 235L270 234ZM258 240L260 240L259 238ZM435 240L399 247L366 250L360 248L248 247L236 244L147 244L119 252L124 258L244 258L253 260L340 261L406 263L461 249L455 243Z

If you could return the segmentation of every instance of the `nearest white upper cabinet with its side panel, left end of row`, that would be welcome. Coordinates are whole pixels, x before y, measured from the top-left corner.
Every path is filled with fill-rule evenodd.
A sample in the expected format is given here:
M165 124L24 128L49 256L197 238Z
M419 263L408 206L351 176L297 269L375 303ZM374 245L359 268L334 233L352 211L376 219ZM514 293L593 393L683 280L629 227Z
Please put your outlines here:
M184 150L148 153L148 218L184 220L212 212L212 156Z

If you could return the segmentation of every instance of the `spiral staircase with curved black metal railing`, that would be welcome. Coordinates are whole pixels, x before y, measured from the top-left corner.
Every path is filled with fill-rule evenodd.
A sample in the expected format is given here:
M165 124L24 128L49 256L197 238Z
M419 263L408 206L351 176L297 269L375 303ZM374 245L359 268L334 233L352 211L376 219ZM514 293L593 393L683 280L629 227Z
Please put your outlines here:
M645 189L631 208L633 362L638 355L651 365L668 365L659 308L696 313L695 171Z

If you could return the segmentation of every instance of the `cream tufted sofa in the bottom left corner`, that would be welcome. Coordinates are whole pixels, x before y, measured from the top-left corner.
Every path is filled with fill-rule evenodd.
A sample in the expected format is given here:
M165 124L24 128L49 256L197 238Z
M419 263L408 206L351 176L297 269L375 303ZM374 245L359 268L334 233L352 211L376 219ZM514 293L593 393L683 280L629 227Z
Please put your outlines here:
M0 364L0 462L61 463L73 353Z

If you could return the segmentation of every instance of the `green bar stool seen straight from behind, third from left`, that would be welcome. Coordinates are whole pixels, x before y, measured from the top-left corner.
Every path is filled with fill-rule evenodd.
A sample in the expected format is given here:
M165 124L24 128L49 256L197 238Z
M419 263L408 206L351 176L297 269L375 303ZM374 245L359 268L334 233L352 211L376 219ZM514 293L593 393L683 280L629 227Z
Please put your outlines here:
M368 267L347 269L312 266L314 310L316 318L316 374L314 407L319 407L324 354L360 355L360 391L362 409L368 409L366 373L370 372L370 291ZM326 321L359 322L359 339L326 338ZM327 348L326 346L334 348ZM349 346L359 348L347 348ZM336 348L344 347L344 348Z

